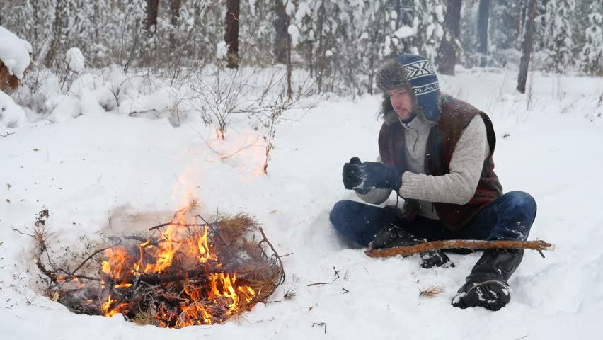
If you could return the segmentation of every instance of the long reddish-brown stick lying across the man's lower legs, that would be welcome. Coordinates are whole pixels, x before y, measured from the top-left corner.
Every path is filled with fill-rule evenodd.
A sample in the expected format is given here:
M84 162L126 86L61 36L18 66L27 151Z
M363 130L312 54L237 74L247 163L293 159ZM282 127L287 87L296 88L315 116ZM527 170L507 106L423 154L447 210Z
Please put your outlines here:
M414 246L396 246L386 249L369 249L364 251L370 257L390 257L396 255L409 256L430 250L441 249L534 249L537 251L554 250L555 244L536 241L481 241L474 239L446 239L430 241Z

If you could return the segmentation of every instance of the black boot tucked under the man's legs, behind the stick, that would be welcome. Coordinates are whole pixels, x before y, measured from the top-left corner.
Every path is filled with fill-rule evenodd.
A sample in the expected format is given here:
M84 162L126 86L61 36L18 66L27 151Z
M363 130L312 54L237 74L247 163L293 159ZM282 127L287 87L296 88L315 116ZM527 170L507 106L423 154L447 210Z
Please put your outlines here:
M425 239L418 239L414 237L412 234L408 233L403 227L389 225L387 227L381 228L381 230L377 232L375 238L373 239L373 242L371 242L371 248L382 249L394 248L395 246L414 246L415 244L420 244L421 242L425 242ZM444 265L444 268L447 268L448 266L454 267L454 264L452 262L449 263L449 257L442 251L425 251L421 253L420 256L423 260L421 262L421 267L423 268L429 269L433 267L441 267Z

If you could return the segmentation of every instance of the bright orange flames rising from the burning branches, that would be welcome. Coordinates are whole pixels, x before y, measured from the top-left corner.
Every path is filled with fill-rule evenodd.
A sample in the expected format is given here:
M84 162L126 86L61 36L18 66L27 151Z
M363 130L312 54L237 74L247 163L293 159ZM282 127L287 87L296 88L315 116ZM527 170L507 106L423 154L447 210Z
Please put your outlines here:
M123 246L115 246L104 251L105 261L102 281L112 290L120 293L135 289L137 278L144 274L178 273L183 276L190 271L204 271L208 261L212 268L220 268L217 255L208 243L208 225L205 227L186 227L193 222L187 222L185 214L190 208L179 210L171 225L161 232L159 242L152 239L139 243L133 254ZM253 300L256 293L248 285L236 285L235 273L207 273L205 277L186 278L176 283L182 286L182 300L178 313L173 314L163 305L158 306L155 319L163 327L185 327L194 324L213 324L223 322L224 316L241 312ZM105 317L130 310L130 302L120 302L117 295L109 295L101 305ZM112 297L113 296L113 297ZM114 300L117 299L117 300ZM212 314L220 308L221 315ZM135 308L134 308L135 309Z

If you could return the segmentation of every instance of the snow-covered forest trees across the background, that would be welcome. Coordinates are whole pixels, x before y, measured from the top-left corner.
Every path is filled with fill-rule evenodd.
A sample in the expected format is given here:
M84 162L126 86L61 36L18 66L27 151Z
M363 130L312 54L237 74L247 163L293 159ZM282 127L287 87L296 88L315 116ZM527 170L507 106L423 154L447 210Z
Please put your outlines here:
M17 0L0 1L0 25L57 72L78 47L88 67L290 64L337 94L372 94L379 60L402 52L442 74L519 67L527 33L530 69L603 72L600 0Z

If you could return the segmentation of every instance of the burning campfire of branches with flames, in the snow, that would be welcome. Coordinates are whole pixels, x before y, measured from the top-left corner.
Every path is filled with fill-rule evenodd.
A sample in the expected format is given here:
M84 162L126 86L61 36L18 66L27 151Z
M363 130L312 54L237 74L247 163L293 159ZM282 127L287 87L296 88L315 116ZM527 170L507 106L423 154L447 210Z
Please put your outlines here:
M151 227L149 237L115 240L72 271L50 269L45 236L36 233L46 295L76 313L176 328L223 323L265 302L285 273L263 229L245 214L207 222L195 207Z

